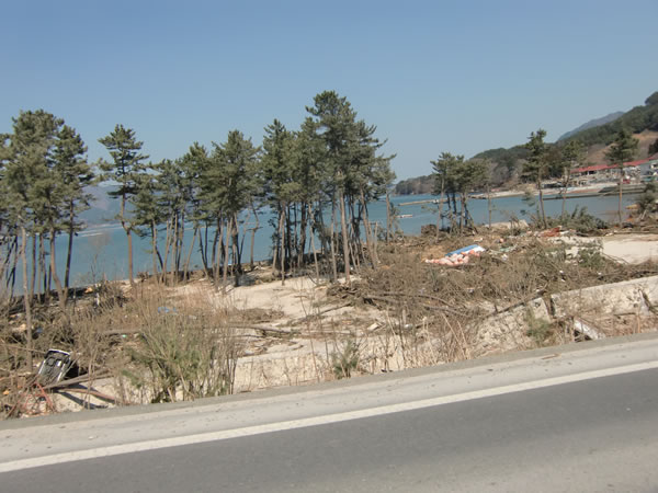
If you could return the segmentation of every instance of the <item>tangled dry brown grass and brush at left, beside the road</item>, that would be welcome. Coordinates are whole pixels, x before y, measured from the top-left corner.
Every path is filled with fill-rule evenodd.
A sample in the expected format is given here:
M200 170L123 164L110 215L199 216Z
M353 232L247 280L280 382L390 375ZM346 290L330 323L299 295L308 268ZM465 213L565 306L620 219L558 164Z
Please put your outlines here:
M230 393L242 346L234 322L265 314L216 309L198 296L178 297L174 303L156 286L145 285L129 298L118 284L99 286L67 313L53 309L47 323L42 317L35 358L38 362L50 347L70 352L77 374L89 388L111 378L116 401L124 403ZM1 335L4 415L52 411L16 408L18 402L43 400L43 392L24 368L24 332L4 324Z

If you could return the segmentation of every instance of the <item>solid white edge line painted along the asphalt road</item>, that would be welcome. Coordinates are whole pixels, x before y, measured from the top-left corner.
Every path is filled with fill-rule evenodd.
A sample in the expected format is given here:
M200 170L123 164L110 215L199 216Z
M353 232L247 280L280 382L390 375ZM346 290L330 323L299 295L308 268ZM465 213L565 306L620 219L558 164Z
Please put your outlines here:
M247 426L242 428L225 429L222 432L201 433L196 435L180 436L174 438L161 438L156 440L137 442L134 444L113 445L110 447L91 448L64 454L54 454L50 456L34 457L30 459L12 460L0 463L0 472L18 471L21 469L37 468L43 466L53 466L76 460L98 459L101 457L117 456L120 454L132 454L147 450L157 450L168 447L180 447L183 445L203 444L206 442L226 440L229 438L239 438L243 436L261 435L264 433L283 432L286 429L304 428L308 426L318 426L341 421L359 420L362 417L382 416L385 414L399 413L404 411L413 411L435 405L451 404L474 399L483 399L506 393L521 392L523 390L543 389L546 387L571 383L576 381L589 380L593 378L611 377L614 375L631 374L647 369L658 368L657 362L638 363L635 365L606 368L600 370L585 371L563 377L546 378L543 380L529 381L524 383L514 383L510 386L496 387L491 389L475 390L453 395L443 395L432 399L423 399L412 402L402 402L399 404L389 404L378 408L364 409L359 411L348 411L344 413L328 414L324 416L305 417L302 420L283 421L279 423L269 423L263 425Z

